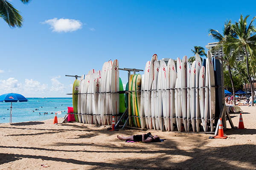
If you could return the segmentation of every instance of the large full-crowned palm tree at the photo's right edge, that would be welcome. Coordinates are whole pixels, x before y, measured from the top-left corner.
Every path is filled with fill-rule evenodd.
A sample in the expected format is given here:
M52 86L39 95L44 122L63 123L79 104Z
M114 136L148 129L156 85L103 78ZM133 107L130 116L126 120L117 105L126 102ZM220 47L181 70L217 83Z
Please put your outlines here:
M236 37L228 37L229 43L226 44L226 49L229 51L234 49L233 53L231 54L232 56L237 56L241 51L245 53L247 76L250 82L252 98L254 99L254 87L251 79L251 73L249 70L249 54L250 58L256 56L256 28L253 26L253 21L256 19L256 17L253 17L253 19L250 21L250 24L247 25L248 17L249 15L243 18L243 16L241 15L239 22L236 22L232 26Z

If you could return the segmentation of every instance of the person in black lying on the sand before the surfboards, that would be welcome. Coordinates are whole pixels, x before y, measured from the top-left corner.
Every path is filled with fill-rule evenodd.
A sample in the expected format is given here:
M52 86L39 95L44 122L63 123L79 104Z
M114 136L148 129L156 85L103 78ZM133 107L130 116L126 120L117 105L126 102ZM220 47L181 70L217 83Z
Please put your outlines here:
M142 134L142 135L134 135L134 136L119 136L117 135L117 138L120 140L131 140L134 142L160 142L160 138L155 135L151 135L151 133Z

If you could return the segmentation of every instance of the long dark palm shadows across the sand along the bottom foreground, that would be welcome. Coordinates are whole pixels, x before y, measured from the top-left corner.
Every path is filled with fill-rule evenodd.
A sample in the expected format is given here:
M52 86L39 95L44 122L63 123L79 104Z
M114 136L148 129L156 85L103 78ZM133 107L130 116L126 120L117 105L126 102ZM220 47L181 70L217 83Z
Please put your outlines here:
M172 142L171 142L172 143ZM254 144L244 144L244 145L233 145L228 147L209 147L205 149L194 148L191 150L180 150L177 144L171 144L166 147L166 144L154 144L158 147L158 150L143 150L143 147L137 147L137 150L131 150L131 147L114 147L113 150L107 151L108 153L118 154L127 153L131 156L131 159L117 159L110 162L102 161L81 161L77 159L64 159L51 156L34 156L28 154L8 154L0 153L0 164L8 163L22 158L32 158L32 159L44 159L49 161L66 162L77 165L90 165L93 169L145 169L154 170L157 168L163 170L170 169L236 169L236 170L246 170L247 168L241 166L246 163L251 167L256 167L256 162L254 160L256 145ZM104 146L104 147L108 147ZM15 147L16 148L16 147ZM20 147L18 147L20 148ZM40 149L44 148L34 148L34 147L21 147L23 149ZM55 150L51 150L55 151ZM58 151L58 150L56 150ZM63 150L64 152L66 150ZM73 150L70 152L77 152L78 150ZM101 152L101 151L86 151L84 152ZM101 153L105 153L102 151ZM150 159L132 159L132 155L135 153L148 153L151 154ZM182 156L181 160L175 160L175 156ZM232 156L231 156L232 155Z

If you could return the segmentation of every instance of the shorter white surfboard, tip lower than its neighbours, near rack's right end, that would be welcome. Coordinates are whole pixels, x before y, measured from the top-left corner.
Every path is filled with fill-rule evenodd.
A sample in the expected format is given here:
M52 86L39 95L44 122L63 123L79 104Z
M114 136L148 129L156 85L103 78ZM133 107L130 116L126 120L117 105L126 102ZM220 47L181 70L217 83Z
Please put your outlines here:
M201 121L204 127L204 103L205 103L205 68L201 67L199 73L199 103L200 103L200 114Z

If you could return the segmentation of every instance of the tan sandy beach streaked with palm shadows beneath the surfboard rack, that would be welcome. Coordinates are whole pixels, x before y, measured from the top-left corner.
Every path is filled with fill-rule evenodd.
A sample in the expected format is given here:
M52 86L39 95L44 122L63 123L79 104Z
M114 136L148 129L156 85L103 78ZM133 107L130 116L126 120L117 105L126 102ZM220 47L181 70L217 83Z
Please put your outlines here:
M42 122L0 124L1 170L256 169L256 107L241 106L246 129L210 134L119 130L108 126ZM239 114L230 114L235 126ZM59 122L62 119L58 119ZM227 122L227 127L230 128ZM151 132L161 143L126 143L116 135ZM41 165L48 167L42 167Z

